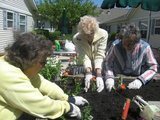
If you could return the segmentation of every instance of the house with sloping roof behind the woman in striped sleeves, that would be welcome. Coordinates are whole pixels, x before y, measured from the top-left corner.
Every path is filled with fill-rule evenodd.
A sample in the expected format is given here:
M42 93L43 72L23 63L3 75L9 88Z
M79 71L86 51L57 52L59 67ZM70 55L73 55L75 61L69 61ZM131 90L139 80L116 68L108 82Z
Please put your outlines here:
M101 14L100 17L105 17L106 21L100 23L103 28L108 28L109 33L118 32L122 25L127 23L135 23L141 30L142 38L144 38L153 48L160 47L160 11L150 12L141 9L114 8L110 10L109 15ZM128 11L127 11L128 10ZM120 14L123 12L123 14ZM102 12L103 13L103 12ZM110 17L109 17L110 16ZM101 19L99 20L101 21ZM149 27L150 23L150 27ZM149 32L150 31L150 32ZM149 38L149 39L148 39ZM148 40L147 40L148 39Z

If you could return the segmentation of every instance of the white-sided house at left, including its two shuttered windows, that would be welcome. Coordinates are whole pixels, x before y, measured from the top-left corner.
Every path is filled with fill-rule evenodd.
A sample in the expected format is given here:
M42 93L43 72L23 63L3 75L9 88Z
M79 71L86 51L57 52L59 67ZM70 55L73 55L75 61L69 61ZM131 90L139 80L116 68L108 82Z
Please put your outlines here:
M0 53L14 42L13 31L29 32L34 28L31 12L34 0L0 0Z

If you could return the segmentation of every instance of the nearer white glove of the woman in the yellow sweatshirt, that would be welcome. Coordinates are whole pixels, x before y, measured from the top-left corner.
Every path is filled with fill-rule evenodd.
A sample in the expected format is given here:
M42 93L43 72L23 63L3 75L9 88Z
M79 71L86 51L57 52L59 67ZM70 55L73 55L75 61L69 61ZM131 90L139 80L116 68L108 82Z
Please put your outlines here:
M73 103L70 103L70 111L68 112L67 115L80 120L81 119L81 110L79 109L79 107L77 107Z

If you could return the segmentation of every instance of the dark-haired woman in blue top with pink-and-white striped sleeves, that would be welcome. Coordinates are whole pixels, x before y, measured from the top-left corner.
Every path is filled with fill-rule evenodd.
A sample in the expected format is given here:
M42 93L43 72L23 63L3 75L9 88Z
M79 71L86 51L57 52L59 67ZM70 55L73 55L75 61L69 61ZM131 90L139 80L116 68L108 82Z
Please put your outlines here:
M157 62L148 43L141 39L139 28L134 24L120 30L122 39L112 44L105 59L105 85L108 91L114 86L117 74L135 76L128 84L129 89L139 89L150 81L157 72Z

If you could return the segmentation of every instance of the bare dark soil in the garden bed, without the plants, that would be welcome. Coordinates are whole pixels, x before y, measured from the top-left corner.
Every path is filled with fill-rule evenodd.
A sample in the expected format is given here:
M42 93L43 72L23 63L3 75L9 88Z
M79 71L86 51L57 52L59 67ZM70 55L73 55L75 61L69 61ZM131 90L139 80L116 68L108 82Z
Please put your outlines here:
M127 84L127 83L126 83ZM125 90L117 93L112 90L110 93L106 90L101 93L87 92L81 95L86 98L92 106L93 120L121 120L123 106L126 98L132 99L140 95L146 101L160 101L160 81L151 81L139 90ZM138 106L131 102L127 120L138 120Z

